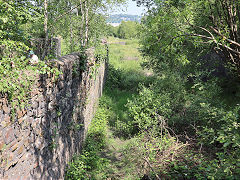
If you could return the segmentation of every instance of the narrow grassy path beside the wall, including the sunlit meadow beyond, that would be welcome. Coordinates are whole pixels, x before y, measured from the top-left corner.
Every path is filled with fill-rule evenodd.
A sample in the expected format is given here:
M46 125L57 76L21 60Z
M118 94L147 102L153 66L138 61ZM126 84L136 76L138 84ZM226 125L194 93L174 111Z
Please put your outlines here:
M139 83L145 83L153 73L143 70L141 63L143 59L138 52L136 40L123 41L111 38L110 40L110 64L113 68L120 69L123 76L119 87L106 87L105 99L111 101L108 104L111 117L107 130L107 147L101 152L101 157L109 161L105 174L107 179L136 179L138 174L136 167L126 157L126 147L131 144L132 139L126 137L122 127L130 120L127 114L126 104L133 94L137 93Z

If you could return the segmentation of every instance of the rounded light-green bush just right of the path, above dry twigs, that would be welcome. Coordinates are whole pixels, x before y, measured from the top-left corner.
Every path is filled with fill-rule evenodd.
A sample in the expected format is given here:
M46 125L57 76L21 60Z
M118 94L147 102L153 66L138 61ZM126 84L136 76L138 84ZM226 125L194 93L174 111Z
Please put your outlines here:
M177 78L170 74L164 75L150 87L140 86L139 94L127 104L136 128L157 128L160 119L170 119L179 111L184 104L186 90Z

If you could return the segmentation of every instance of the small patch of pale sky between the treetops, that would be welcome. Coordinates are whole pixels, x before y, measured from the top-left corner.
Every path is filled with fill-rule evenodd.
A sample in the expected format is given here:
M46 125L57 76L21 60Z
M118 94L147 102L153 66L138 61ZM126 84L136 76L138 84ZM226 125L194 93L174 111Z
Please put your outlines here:
M136 1L128 0L126 5L115 9L111 14L142 15L143 7L137 7Z

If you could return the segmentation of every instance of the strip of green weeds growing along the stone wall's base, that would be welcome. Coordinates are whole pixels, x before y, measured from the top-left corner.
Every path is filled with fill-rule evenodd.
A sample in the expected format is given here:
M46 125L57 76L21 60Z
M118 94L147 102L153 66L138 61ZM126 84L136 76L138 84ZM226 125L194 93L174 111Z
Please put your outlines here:
M91 122L83 151L69 164L65 179L99 179L96 175L101 174L109 163L100 155L106 146L107 120L106 111L100 107ZM101 178L104 178L104 174L101 174Z

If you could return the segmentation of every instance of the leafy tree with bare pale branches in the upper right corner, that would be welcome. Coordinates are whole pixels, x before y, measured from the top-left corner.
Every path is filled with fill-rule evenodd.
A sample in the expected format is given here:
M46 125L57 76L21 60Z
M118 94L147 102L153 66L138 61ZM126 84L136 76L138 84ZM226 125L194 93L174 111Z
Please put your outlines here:
M144 36L147 35L145 40L149 38L147 41L161 46L161 55L167 56L164 51L169 48L172 52L185 51L179 47L186 47L186 44L190 47L189 52L192 51L191 49L196 52L197 49L208 47L221 54L240 74L239 1L138 0L137 2L140 5L147 4L149 7L144 28L149 28L151 34L154 31L155 35L150 37L146 32ZM150 47L147 50L156 52L151 51Z

